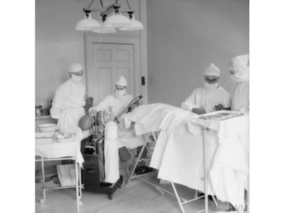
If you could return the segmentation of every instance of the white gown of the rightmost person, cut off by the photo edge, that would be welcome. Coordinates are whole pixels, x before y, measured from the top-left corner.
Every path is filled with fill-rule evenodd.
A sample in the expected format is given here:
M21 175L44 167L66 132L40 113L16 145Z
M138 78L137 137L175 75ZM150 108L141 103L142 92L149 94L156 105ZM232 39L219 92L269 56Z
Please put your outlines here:
M249 78L236 84L231 110L249 113Z

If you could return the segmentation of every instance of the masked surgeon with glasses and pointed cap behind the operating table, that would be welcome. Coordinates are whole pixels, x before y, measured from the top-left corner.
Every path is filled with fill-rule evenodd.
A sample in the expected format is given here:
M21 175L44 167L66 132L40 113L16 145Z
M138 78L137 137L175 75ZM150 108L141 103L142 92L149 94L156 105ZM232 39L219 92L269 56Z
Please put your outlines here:
M217 83L219 77L220 70L212 63L205 69L204 87L193 90L190 97L182 102L182 109L192 111L195 114L216 111L220 105L228 110L231 109L231 95Z

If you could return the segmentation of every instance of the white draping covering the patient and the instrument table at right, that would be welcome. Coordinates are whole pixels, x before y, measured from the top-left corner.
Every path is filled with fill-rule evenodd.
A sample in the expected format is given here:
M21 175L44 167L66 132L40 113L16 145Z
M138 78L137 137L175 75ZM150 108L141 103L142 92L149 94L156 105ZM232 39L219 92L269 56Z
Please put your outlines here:
M156 109L155 109L156 107ZM221 112L221 111L219 111ZM207 126L208 193L232 204L244 204L249 174L249 114L224 121L197 119L198 115L165 104L148 104L127 117L136 134L160 130L150 166L158 178L204 192L204 138Z

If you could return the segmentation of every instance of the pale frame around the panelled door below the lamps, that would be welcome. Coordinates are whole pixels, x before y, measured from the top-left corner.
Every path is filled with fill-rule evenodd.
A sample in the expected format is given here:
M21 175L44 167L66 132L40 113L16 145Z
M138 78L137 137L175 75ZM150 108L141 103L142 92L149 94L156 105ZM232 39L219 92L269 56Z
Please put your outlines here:
M88 87L88 70L92 70L92 43L106 44L131 44L133 45L133 72L134 72L134 96L141 95L141 72L140 72L140 38L137 36L125 35L94 35L94 33L84 33L85 63L86 63L86 87ZM86 92L87 93L87 92ZM87 94L88 95L88 94Z

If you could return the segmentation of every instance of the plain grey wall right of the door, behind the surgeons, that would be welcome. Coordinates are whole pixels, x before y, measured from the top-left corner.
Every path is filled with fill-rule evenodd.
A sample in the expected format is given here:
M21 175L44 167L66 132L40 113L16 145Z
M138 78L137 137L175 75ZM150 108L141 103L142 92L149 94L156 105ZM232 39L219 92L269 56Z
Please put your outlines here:
M149 104L180 107L212 62L233 94L226 65L249 54L249 0L148 0L147 28Z

